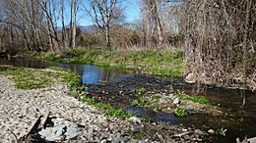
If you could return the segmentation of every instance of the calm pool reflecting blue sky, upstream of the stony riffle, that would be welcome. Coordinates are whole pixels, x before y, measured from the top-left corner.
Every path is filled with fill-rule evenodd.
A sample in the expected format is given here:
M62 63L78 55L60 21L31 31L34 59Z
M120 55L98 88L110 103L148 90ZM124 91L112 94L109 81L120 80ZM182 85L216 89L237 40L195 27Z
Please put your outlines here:
M0 65L12 65L15 67L26 68L48 68L55 66L64 69L70 69L71 71L75 71L81 74L83 84L115 82L119 81L125 75L124 71L101 68L92 65L56 64L32 59L0 59Z

